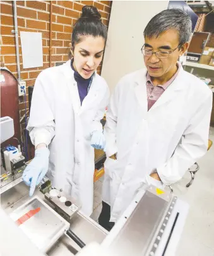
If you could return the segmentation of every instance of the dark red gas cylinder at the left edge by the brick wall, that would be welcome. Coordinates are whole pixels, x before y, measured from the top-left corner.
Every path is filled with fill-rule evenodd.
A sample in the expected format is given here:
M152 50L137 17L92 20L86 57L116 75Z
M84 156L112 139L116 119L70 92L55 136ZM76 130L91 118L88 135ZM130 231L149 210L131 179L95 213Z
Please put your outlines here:
M13 118L15 130L13 138L18 138L21 143L18 81L9 70L1 68L1 118L4 116ZM1 143L1 148L8 144L17 147L18 142L13 138L9 138L5 142Z

